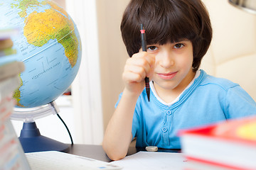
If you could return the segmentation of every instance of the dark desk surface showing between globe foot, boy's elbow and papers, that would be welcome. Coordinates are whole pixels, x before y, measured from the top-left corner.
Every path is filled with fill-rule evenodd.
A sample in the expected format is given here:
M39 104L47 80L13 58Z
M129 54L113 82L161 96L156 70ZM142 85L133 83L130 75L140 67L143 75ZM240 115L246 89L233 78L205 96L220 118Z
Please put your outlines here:
M144 148L129 147L127 155L135 154L139 151L145 151ZM180 149L159 149L159 152L181 152ZM71 145L69 154L75 154L82 157L97 159L104 162L111 162L104 152L102 145Z

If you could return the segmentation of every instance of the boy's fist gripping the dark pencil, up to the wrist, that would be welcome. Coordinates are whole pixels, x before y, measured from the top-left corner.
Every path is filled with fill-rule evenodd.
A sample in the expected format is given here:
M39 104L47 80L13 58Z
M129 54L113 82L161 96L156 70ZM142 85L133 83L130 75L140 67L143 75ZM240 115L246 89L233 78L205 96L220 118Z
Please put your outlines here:
M125 89L139 96L145 87L145 77L151 79L154 74L154 62L154 55L149 55L147 52L132 55L127 60L122 74Z

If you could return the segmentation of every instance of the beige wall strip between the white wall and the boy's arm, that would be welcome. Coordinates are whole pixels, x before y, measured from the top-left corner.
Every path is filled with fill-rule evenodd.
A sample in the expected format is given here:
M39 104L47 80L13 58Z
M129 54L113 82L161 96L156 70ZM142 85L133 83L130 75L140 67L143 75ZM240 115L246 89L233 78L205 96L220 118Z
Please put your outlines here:
M120 23L128 2L129 0L97 0L104 129L124 88L122 71L129 56L122 42Z

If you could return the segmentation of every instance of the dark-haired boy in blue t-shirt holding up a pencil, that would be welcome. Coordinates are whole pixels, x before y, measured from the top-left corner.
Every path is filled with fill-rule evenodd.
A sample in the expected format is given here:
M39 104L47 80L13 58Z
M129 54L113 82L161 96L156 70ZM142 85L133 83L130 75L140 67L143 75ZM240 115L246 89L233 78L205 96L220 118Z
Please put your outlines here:
M147 52L141 48L140 23ZM179 149L178 130L256 114L255 101L238 84L198 70L212 38L201 0L132 0L121 31L131 58L103 140L110 159L125 157L134 137L137 147ZM150 102L145 77L151 80Z

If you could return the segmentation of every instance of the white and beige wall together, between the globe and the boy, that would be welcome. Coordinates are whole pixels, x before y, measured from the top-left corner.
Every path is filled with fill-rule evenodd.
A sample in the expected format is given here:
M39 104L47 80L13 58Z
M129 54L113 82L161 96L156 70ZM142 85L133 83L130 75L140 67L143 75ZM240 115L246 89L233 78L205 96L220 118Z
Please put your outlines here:
M123 89L128 58L120 23L129 0L66 0L82 38L82 64L73 83L75 132L79 143L101 144Z

